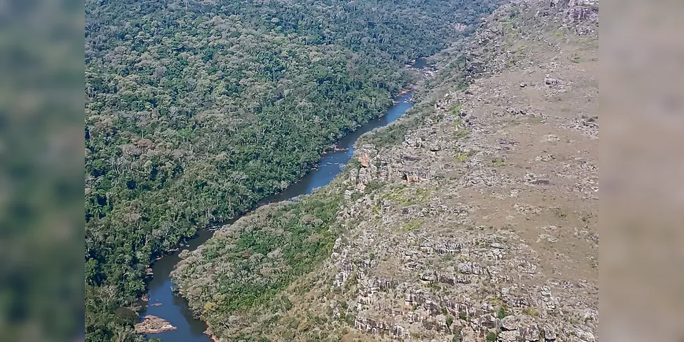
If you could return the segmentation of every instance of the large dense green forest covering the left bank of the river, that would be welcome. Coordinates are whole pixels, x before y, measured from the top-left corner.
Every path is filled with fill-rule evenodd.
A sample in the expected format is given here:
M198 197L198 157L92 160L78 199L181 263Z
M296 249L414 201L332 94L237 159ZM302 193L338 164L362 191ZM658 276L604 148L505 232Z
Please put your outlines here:
M496 1L87 0L86 341L132 341L149 263L381 114Z

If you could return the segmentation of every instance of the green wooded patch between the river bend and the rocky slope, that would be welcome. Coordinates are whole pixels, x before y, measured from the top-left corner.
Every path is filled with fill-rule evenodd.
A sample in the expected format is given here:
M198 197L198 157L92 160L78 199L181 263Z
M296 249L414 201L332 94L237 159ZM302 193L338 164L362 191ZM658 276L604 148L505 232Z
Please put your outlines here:
M236 311L259 304L268 304L272 311L287 308L288 300L279 291L330 255L340 231L335 223L340 188L259 209L218 231L198 250L181 253L183 261L172 273L174 282L216 337L235 338L227 335L222 323ZM246 337L242 335L249 341Z

